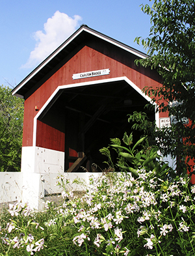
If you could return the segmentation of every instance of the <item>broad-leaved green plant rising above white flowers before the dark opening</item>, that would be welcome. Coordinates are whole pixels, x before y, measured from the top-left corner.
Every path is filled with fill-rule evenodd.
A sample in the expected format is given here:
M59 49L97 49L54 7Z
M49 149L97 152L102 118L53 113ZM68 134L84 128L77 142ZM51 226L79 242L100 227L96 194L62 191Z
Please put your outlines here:
M116 166L120 171L127 171L133 173L134 177L138 177L137 170L145 169L146 171L155 171L156 177L161 177L162 179L175 177L175 172L170 167L168 163L162 161L162 157L159 155L159 148L155 145L149 145L148 135L141 137L135 145L133 145L133 133L129 136L125 132L123 135L123 144L120 139L110 139L110 147L116 150L118 154ZM108 162L109 168L114 168L112 162L110 147L100 149L102 154L105 154L109 158Z

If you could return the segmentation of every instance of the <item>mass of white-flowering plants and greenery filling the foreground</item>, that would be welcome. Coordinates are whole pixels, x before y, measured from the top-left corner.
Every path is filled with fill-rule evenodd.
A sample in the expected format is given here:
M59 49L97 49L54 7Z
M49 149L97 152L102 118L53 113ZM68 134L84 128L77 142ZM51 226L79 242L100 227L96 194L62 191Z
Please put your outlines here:
M85 195L63 192L62 205L40 213L10 205L1 255L194 255L195 186L154 170L137 175L92 177Z

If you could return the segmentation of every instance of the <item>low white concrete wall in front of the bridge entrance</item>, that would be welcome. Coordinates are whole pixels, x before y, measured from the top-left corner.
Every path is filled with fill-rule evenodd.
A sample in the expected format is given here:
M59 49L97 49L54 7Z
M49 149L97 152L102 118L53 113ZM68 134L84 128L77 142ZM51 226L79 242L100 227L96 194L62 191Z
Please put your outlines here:
M63 191L57 186L57 177L74 180L80 178L89 182L91 175L98 177L102 173L0 173L0 205L13 201L28 203L32 209L43 210L44 202L55 201ZM78 184L68 184L66 190L81 191Z

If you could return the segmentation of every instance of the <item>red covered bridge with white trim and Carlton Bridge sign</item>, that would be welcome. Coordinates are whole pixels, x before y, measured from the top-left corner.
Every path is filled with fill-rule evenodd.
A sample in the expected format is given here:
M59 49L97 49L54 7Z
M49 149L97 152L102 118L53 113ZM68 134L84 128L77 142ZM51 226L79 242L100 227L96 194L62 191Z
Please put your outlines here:
M145 57L81 25L13 90L25 99L21 171L101 166L99 149L129 130L128 114L146 111L150 98L142 89L161 85L155 70L135 66ZM169 122L166 113L147 113L159 126Z

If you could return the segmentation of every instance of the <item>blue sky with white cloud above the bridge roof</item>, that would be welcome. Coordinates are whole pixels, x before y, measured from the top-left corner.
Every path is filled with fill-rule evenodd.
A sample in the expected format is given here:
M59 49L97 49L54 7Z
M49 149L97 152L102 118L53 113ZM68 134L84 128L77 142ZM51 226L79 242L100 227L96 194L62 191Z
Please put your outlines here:
M0 85L16 86L83 23L144 51L134 42L151 27L142 3L149 0L1 0Z

